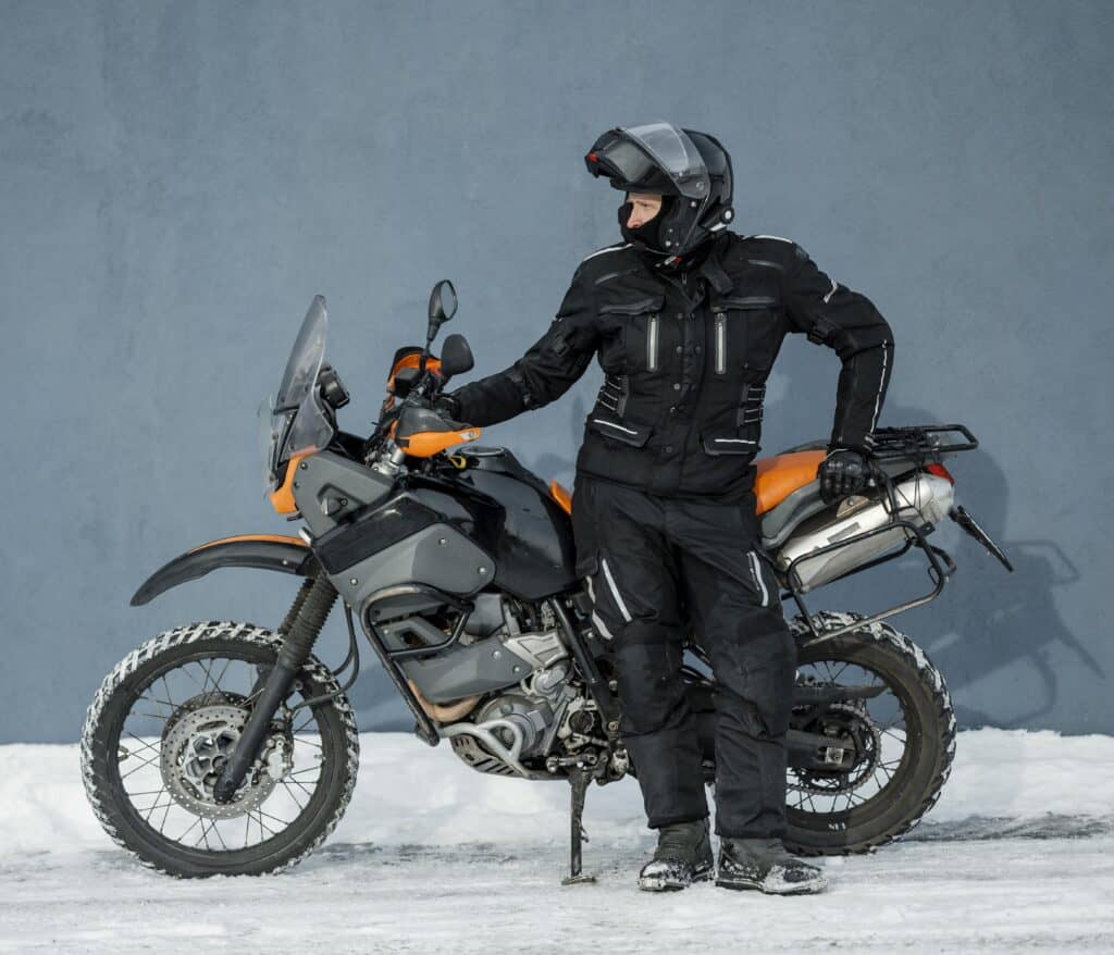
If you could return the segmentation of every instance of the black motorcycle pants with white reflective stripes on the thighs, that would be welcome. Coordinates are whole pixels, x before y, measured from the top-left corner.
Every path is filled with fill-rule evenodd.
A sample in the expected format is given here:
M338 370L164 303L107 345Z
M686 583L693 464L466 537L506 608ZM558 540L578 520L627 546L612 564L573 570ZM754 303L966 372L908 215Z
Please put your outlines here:
M761 556L753 491L737 504L694 503L580 475L573 523L651 828L709 815L680 673L688 632L717 684L715 831L784 836L797 651Z

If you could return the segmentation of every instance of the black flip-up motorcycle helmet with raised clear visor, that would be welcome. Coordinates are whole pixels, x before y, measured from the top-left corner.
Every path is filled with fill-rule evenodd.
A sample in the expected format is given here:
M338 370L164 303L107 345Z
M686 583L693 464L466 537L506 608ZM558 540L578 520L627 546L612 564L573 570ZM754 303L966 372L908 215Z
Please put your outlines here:
M593 144L584 162L624 193L674 197L663 204L658 252L682 256L734 218L731 156L715 137L671 123L616 126Z

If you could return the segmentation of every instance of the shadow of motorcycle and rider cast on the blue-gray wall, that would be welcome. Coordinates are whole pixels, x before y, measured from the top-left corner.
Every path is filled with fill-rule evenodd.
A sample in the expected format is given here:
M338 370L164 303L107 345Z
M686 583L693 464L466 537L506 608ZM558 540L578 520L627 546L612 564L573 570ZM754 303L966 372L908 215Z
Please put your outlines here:
M774 402L771 418L778 417L781 403ZM585 412L584 398L576 396L568 418L570 455L545 451L522 464L547 483L554 477L566 483L574 472ZM944 423L925 409L892 402L887 403L885 419L883 423L891 425ZM977 429L973 430L978 437ZM980 545L946 522L934 543L956 559L956 574L937 600L891 617L889 623L907 632L932 657L948 682L960 725L1026 727L1039 723L1056 704L1054 651L1062 655L1059 651L1067 649L1100 679L1105 674L1056 608L1056 591L1079 577L1071 558L1054 540L1008 538L1008 486L993 452L993 442L980 442L977 450L957 455L948 465L956 478L957 501L967 506L1003 547L1015 572L1006 572ZM860 577L829 585L807 597L807 603L810 611L874 612L929 589L912 583L927 579L921 574L924 558L909 554ZM791 602L786 608L790 606ZM412 728L413 719L381 670L361 680L355 691L353 702L362 729Z

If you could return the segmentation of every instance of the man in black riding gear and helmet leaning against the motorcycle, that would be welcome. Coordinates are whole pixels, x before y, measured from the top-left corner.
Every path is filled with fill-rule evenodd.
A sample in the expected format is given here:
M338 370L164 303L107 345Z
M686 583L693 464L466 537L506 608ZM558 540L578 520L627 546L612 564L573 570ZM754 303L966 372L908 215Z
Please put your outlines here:
M800 246L727 231L731 160L713 137L665 123L619 127L586 163L626 194L625 241L580 263L557 318L521 359L447 396L446 410L473 425L505 421L560 397L598 357L604 384L585 422L573 524L577 572L613 654L620 733L658 830L639 887L712 877L678 673L691 624L717 684L716 885L820 891L821 870L781 842L797 654L764 562L753 459L765 379L784 335L800 332L842 360L821 494L833 501L860 489L892 334Z

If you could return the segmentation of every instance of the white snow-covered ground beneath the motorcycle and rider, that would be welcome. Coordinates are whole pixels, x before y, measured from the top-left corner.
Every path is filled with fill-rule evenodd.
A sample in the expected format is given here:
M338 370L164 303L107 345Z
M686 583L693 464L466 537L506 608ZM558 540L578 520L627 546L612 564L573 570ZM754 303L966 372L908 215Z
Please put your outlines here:
M331 839L291 873L179 881L101 832L76 747L0 747L0 952L1114 952L1114 738L960 733L903 841L827 859L822 896L639 893L636 783L588 791L561 887L568 787L482 776L401 733L361 738Z

